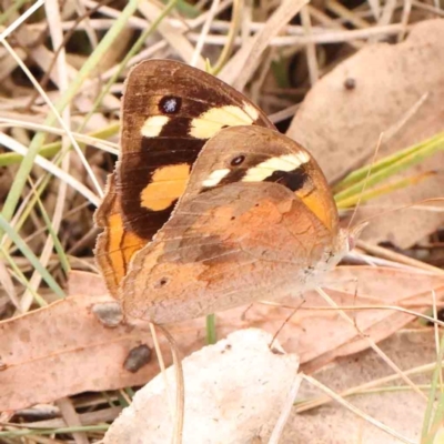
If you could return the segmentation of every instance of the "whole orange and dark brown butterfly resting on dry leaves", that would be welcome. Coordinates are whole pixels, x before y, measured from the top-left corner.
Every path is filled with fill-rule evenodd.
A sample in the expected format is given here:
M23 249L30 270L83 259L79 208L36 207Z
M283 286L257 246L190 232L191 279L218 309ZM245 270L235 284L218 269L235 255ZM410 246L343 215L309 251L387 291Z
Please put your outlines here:
M299 294L353 246L316 161L246 97L172 60L130 72L97 261L158 324Z

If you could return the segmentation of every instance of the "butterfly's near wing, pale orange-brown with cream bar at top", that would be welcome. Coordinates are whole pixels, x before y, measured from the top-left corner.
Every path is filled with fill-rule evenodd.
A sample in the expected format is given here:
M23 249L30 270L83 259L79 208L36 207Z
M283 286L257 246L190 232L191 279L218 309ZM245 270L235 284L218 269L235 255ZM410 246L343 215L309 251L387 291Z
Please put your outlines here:
M167 323L301 292L346 250L339 234L331 192L305 150L268 129L222 130L170 221L135 254L123 310Z

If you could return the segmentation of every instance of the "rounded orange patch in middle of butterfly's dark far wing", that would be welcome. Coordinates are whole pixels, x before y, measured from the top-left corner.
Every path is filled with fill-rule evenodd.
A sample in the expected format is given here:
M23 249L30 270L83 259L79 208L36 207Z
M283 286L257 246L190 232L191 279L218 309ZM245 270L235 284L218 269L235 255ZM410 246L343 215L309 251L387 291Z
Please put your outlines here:
M189 176L188 163L159 168L154 171L151 182L141 192L141 205L152 211L168 209L185 191Z

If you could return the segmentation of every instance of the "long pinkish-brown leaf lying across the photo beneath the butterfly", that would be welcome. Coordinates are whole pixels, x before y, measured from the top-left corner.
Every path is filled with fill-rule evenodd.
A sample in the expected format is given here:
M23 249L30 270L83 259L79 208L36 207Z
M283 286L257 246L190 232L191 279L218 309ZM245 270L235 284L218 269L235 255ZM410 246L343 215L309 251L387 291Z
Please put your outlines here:
M397 269L343 266L336 269L331 280L336 286L327 292L339 305L395 305L412 302L420 294L420 301L416 302L426 306L432 290L437 297L444 294L443 276ZM0 323L0 360L4 364L4 370L0 371L0 411L51 402L85 391L142 385L159 373L155 354L135 373L124 369L131 350L141 344L152 349L151 334L148 326L103 325L93 309L113 300L102 294L103 283L99 275L74 272L69 287L71 291L82 289L84 293ZM282 302L299 306L301 297L287 297ZM312 310L306 310L309 305ZM371 334L373 340L381 341L412 320L411 315L404 313L365 310L351 313L356 324L352 326L336 311L320 310L325 306L326 303L317 294L306 294L305 310L299 310L279 334L284 350L297 353L301 363L325 363L343 355L347 351L341 347L356 339L361 340L356 326ZM290 313L291 310L286 307L268 304L218 313L218 337L251 326L274 334ZM375 325L377 329L372 331ZM168 329L175 337L182 355L205 344L204 319L169 325ZM160 343L169 365L170 346L161 335ZM353 345L352 352L366 346L366 342L361 341L359 347ZM312 365L315 366L319 365Z

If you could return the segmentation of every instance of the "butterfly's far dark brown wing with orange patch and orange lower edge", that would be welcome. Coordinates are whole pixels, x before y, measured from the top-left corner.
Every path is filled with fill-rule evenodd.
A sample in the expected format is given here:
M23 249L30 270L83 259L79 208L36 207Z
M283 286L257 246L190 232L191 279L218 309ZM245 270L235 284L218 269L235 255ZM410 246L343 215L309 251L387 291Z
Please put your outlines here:
M172 60L148 60L129 74L121 153L95 213L97 259L113 295L131 258L168 221L205 141L221 128L274 128L216 78Z

